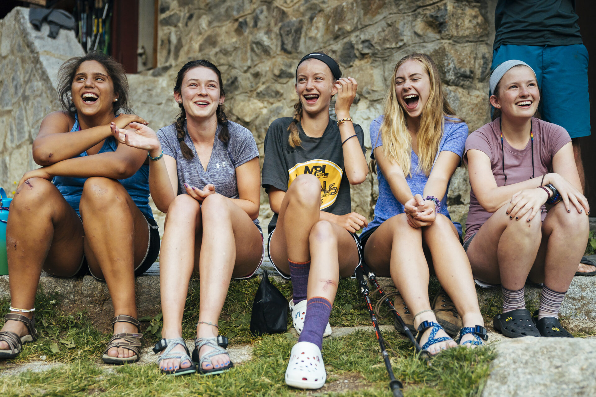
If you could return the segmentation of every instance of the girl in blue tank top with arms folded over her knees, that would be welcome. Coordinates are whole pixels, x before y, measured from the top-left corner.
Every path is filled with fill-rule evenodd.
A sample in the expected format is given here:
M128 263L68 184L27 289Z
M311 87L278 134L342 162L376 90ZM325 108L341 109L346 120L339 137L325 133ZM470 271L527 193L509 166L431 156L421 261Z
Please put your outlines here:
M147 121L120 113L129 111L128 82L113 58L100 52L72 58L59 77L64 110L42 121L33 141L33 159L42 167L24 174L8 215L11 314L0 334L0 358L16 357L37 337L35 293L44 270L105 280L114 336L103 361L138 361L135 276L157 258L159 232L149 207L147 151L117 143L110 123Z

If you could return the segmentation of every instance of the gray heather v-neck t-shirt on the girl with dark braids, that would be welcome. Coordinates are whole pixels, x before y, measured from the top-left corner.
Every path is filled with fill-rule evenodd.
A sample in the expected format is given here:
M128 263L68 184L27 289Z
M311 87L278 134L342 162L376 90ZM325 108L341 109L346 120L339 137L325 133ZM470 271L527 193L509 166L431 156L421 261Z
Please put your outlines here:
M184 129L186 129L186 124ZM221 129L221 124L218 124L207 170L203 170L203 165L198 159L197 150L188 132L184 135L184 142L193 151L194 157L190 160L185 159L182 155L174 124L163 127L157 132L163 154L176 160L179 195L188 194L184 187L185 183L198 187L198 189L203 189L205 185L212 183L217 193L229 198L238 198L235 168L259 157L259 149L254 142L253 134L240 124L228 121L229 140L227 145L218 137ZM254 223L259 224L259 221L254 220Z

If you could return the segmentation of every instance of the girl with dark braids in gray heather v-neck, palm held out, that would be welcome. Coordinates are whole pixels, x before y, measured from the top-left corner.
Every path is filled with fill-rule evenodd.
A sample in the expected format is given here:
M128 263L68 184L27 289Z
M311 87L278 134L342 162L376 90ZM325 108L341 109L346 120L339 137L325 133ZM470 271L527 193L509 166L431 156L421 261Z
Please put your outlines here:
M149 151L150 189L167 213L160 255L163 338L154 351L162 373L217 374L233 367L218 339L218 319L231 278L248 278L263 260L259 151L252 133L226 120L218 68L191 61L178 72L181 114L157 134L132 123L113 127L120 142ZM192 358L182 339L191 274L200 276L201 310Z

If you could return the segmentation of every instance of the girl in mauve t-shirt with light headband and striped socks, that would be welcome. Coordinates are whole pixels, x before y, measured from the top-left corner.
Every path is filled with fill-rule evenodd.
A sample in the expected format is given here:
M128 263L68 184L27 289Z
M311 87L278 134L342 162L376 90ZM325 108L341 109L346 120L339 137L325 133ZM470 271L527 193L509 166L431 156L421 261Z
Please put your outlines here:
M589 208L571 139L563 127L533 117L540 92L524 62L499 65L491 92L501 117L465 143L472 190L464 248L476 279L501 284L496 330L508 337L572 337L558 311L586 248ZM544 283L534 318L524 301L527 279Z

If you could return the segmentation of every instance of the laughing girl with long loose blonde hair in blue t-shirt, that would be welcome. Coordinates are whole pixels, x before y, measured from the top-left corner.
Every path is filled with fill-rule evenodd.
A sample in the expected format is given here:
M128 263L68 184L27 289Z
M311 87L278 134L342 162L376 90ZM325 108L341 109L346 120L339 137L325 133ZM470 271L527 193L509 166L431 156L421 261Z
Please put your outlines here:
M364 259L380 276L392 277L403 299L395 306L418 330L423 349L437 354L457 346L443 327L453 336L460 331L461 345L481 345L486 330L461 225L451 222L446 207L468 127L443 97L428 55L402 58L391 81L384 115L370 126L379 195L375 218L361 234ZM446 292L439 291L433 308L427 293L431 267Z

